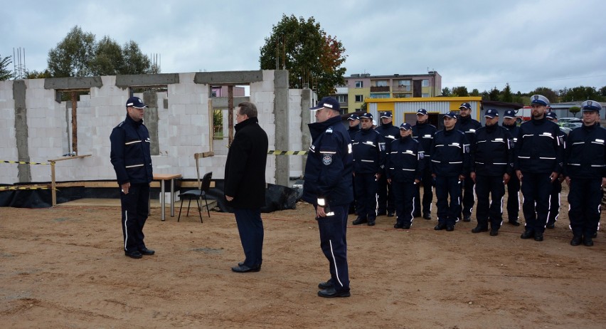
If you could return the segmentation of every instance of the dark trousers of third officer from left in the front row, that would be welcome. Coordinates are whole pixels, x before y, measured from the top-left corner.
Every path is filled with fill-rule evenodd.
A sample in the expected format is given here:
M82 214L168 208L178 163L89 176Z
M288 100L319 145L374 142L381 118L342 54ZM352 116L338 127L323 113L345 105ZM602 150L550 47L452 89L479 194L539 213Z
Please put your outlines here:
M461 185L458 176L435 177L438 224L454 225L461 215ZM448 197L450 196L450 204Z

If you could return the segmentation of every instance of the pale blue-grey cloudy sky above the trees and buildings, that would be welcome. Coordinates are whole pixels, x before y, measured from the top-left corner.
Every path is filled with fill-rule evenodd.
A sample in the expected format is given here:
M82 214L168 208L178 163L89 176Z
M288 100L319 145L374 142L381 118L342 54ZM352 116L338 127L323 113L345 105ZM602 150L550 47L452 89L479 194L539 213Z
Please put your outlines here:
M0 56L24 48L26 68L73 26L133 40L161 56L163 73L259 69L260 47L287 16L313 16L346 48L346 75L442 75L465 85L529 92L606 85L606 1L61 1L0 8ZM12 68L12 66L11 66Z

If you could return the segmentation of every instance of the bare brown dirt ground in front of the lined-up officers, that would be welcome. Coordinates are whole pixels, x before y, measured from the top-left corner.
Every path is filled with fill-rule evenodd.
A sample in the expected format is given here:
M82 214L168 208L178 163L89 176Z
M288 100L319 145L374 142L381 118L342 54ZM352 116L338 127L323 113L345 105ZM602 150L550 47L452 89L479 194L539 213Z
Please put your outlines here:
M312 207L262 214L262 271L243 260L233 214L145 226L154 256L122 251L117 208L0 208L3 328L605 328L606 234L570 246L562 214L545 241L434 231L348 228L350 298L319 298L329 278ZM195 213L194 213L195 214ZM197 215L197 214L195 214ZM473 218L473 217L472 217ZM353 220L354 216L350 216Z

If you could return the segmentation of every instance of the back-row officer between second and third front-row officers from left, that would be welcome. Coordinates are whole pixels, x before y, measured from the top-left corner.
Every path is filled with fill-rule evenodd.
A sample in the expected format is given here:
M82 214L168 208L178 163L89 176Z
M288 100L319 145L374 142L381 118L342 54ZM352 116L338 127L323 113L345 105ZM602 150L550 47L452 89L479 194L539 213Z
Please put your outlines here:
M427 115L427 110L424 108L420 108L417 110L417 124L413 125L413 138L418 140L423 150L425 150L423 161L425 161L425 168L422 172L422 180L421 184L423 185L423 200L422 200L422 209L421 209L421 199L420 199L420 184L417 184L415 192L415 214L413 216L418 217L423 214L424 219L431 219L431 204L433 199L433 191L432 191L432 182L433 179L431 177L431 145L433 142L433 135L437 132L437 129L434 125L430 124L429 115ZM398 207L396 205L396 207Z

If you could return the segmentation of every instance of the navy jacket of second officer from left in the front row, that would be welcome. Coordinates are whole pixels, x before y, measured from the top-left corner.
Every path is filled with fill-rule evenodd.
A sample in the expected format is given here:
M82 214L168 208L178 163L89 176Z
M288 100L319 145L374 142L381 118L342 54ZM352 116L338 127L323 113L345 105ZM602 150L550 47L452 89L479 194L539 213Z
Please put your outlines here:
M414 182L422 179L425 169L423 147L413 137L400 137L391 142L390 153L387 155L387 178L395 182Z

